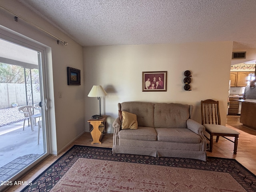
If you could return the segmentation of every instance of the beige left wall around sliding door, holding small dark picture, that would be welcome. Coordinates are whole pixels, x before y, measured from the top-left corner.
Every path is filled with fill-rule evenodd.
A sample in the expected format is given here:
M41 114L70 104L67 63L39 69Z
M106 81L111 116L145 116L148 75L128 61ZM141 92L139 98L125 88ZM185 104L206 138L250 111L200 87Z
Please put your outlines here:
M0 0L0 4L68 42L68 46L64 46L61 43L57 44L56 40L46 33L26 24L20 18L18 18L18 22L15 22L14 15L0 9L0 25L47 47L51 153L57 154L84 132L83 76L81 76L81 86L67 85L68 66L80 69L83 74L82 46L28 10L18 1ZM62 98L58 98L58 92L62 92Z

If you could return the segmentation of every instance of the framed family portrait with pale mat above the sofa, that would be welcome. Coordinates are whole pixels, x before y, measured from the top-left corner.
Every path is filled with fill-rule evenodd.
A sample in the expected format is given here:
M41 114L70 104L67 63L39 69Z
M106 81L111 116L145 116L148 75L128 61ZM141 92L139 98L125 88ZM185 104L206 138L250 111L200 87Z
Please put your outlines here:
M142 91L166 91L167 71L142 72Z

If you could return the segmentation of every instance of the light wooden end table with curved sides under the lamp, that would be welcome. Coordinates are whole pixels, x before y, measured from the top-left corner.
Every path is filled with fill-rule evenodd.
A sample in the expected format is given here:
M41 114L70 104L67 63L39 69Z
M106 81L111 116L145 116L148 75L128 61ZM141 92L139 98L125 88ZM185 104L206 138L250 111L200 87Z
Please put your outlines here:
M87 121L89 122L90 125L92 125L92 130L90 130L90 133L92 135L91 144L94 144L94 143L101 144L100 140L103 136L103 131L106 127L106 119L107 119L107 116L103 115L103 117L100 119L91 118ZM103 124L104 126L99 127L101 124Z

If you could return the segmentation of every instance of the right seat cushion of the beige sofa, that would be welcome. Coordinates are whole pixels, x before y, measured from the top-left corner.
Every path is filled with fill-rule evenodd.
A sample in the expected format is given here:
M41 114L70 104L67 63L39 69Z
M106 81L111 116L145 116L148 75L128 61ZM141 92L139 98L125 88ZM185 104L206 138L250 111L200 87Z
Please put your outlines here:
M187 128L156 128L157 140L179 143L200 143L198 134Z

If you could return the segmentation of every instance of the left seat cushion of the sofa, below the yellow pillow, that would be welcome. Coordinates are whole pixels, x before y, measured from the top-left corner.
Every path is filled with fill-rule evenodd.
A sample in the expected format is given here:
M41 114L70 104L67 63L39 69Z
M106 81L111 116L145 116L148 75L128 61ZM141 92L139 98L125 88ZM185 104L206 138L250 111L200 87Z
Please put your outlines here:
M138 129L122 129L118 132L118 138L120 139L129 139L129 140L150 140L156 141L157 134L154 128L152 127L140 127Z

